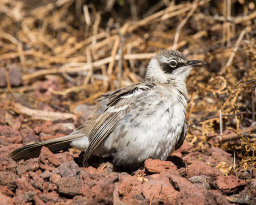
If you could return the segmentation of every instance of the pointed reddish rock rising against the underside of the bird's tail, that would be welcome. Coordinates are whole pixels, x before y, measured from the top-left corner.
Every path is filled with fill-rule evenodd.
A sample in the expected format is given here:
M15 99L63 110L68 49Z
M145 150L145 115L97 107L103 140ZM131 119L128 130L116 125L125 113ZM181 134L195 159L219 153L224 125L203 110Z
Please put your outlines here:
M59 164L59 159L47 147L43 146L39 155L39 167L52 171Z

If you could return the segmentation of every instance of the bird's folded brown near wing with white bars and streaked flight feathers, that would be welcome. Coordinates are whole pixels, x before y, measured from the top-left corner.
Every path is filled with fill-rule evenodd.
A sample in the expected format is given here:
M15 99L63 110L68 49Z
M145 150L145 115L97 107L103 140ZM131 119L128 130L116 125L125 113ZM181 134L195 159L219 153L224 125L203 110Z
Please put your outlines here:
M89 146L83 156L83 165L94 149L114 129L118 121L125 116L129 107L134 105L134 99L144 96L155 84L140 82L123 87L108 95L106 109L95 120L89 131ZM105 97L102 97L105 99ZM99 99L100 100L100 99Z

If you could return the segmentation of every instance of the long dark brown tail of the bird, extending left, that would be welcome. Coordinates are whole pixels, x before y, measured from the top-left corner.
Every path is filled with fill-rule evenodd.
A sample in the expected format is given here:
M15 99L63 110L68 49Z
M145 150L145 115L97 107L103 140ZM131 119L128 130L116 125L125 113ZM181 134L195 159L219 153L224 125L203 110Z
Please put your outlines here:
M72 132L66 136L61 136L58 138L48 139L45 141L40 141L33 144L22 146L20 148L15 149L11 153L9 153L8 156L14 160L18 160L18 159L26 160L32 157L39 156L42 146L46 146L52 152L59 151L65 148L71 148L70 142L82 136L84 136L84 134Z

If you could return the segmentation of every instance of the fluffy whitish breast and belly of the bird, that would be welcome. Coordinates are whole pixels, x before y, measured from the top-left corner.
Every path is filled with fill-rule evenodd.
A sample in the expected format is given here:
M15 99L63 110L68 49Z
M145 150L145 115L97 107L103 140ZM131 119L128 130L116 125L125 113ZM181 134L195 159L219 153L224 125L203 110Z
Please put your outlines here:
M185 119L186 101L178 90L172 89L159 86L152 90L144 97L145 104L129 113L106 139L105 147L111 149L116 135L126 130L125 137L116 145L117 163L139 162L146 158L165 160L174 150ZM125 127L121 127L123 124Z

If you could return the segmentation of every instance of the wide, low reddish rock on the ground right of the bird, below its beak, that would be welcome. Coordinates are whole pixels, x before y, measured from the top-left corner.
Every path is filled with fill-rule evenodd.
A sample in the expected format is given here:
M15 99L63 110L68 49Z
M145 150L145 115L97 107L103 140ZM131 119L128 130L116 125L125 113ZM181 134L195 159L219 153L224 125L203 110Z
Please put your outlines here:
M223 175L220 170L216 168L209 167L206 163L196 162L188 166L186 172L188 177L197 176L197 175L206 175L216 178L216 176Z

